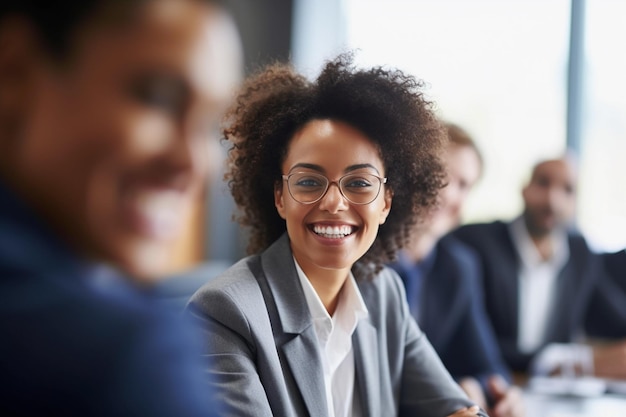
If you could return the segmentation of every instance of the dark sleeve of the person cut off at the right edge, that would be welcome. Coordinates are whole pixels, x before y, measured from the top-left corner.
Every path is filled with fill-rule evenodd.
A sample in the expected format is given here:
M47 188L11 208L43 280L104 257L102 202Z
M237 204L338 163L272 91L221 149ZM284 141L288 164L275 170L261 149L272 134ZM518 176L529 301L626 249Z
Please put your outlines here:
M601 258L605 274L594 291L585 330L592 338L626 338L626 250Z

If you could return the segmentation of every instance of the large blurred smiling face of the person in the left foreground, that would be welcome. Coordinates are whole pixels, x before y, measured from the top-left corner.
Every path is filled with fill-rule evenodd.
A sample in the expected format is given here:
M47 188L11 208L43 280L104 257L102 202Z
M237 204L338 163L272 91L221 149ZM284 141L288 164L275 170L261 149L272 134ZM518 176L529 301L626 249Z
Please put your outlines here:
M141 10L132 24L86 28L67 66L38 67L13 169L75 248L149 277L215 158L241 66L221 11L165 0Z

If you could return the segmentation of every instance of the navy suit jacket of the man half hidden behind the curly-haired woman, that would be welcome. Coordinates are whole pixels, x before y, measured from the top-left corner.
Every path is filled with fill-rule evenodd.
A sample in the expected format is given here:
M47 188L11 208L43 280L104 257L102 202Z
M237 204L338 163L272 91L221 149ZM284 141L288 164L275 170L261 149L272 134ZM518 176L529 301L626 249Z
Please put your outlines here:
M428 259L418 300L420 328L455 378L473 376L484 385L487 377L502 375L510 380L500 348L485 312L480 265L473 251L457 239L439 240ZM406 284L410 278L407 260L390 265Z

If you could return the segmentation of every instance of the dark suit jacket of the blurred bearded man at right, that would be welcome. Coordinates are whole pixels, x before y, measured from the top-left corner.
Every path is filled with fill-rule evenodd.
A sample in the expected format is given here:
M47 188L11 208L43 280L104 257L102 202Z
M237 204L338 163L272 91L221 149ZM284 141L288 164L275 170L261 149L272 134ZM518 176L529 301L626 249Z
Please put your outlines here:
M453 232L479 255L487 314L500 350L509 367L526 371L534 353L517 348L520 258L509 232L501 221L462 226ZM597 255L585 239L568 233L570 256L557 278L557 294L548 323L545 344L569 343L582 330L597 278L602 274Z

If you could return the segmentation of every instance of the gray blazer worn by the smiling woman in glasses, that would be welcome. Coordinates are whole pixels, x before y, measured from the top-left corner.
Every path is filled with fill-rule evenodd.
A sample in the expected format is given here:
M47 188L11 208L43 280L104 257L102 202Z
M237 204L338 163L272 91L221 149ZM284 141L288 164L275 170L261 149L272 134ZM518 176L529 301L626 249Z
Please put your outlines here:
M471 405L384 269L359 282L369 310L353 335L364 416L444 417ZM209 374L232 416L327 416L322 362L287 235L211 280L186 308L206 331ZM215 382L217 381L217 382Z

